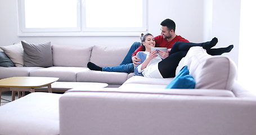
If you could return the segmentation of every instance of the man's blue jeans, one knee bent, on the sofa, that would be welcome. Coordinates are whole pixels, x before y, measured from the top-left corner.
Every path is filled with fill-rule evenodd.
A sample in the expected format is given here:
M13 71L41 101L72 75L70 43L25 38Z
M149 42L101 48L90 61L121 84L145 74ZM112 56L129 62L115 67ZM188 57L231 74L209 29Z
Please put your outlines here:
M124 57L124 60L119 66L114 67L103 67L102 71L109 72L122 72L122 73L133 73L134 67L132 62L132 53L137 50L137 48L141 45L140 42L134 42L129 49L127 55Z

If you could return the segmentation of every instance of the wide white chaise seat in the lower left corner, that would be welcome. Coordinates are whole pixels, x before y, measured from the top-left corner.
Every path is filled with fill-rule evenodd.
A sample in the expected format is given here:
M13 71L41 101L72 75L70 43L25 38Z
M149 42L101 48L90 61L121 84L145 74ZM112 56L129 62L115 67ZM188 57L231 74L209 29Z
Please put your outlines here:
M0 106L0 133L59 134L60 96L34 92Z

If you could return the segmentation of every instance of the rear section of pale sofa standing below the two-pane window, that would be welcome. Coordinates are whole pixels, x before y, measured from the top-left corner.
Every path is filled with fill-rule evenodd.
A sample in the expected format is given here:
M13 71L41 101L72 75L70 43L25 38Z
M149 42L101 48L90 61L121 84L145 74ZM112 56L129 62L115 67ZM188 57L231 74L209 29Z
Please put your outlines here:
M127 54L129 47L80 47L53 44L51 46L52 64L50 64L52 66L50 67L26 66L21 43L0 48L16 65L14 67L0 66L0 79L29 76L58 77L60 78L58 81L61 82L99 82L107 83L109 87L119 87L125 80L133 76L133 73L110 73L92 71L87 68L89 61L100 66L118 66ZM15 51L17 48L21 51ZM17 55L17 53L22 54Z

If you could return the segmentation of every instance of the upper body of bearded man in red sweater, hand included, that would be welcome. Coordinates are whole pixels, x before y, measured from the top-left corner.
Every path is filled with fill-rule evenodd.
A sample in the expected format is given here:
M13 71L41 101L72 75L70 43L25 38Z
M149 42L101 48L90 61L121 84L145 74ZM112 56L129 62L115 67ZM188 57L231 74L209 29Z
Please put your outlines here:
M172 48L175 42L188 42L187 39L182 38L180 35L175 34L176 24L173 20L165 19L161 22L161 35L156 36L155 39L155 47L167 47L169 55L169 51ZM132 62L133 65L140 64L137 61L141 61L136 56L137 52L145 51L142 46L138 47L137 50L132 54Z

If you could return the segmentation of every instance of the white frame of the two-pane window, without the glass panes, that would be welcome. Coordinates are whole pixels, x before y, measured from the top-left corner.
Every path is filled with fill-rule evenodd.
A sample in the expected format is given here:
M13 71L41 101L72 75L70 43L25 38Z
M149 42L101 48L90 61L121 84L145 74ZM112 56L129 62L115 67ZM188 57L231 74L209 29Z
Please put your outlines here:
M143 1L141 28L86 28L86 0L77 0L77 28L26 28L24 0L18 1L19 32L20 37L36 36L137 36L148 30L147 7L148 0ZM83 17L84 16L84 17Z

